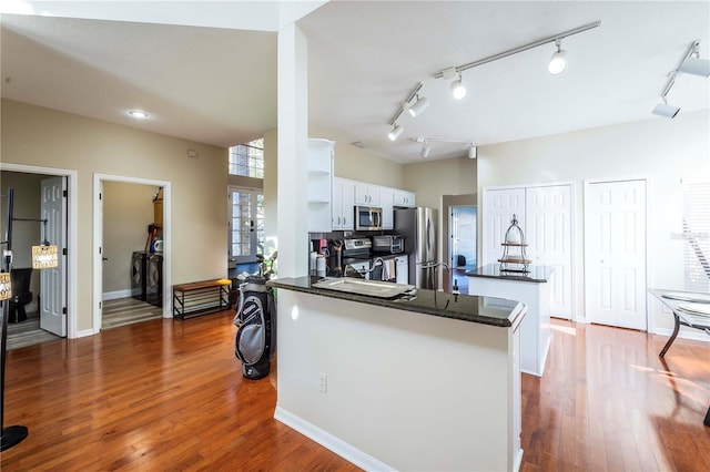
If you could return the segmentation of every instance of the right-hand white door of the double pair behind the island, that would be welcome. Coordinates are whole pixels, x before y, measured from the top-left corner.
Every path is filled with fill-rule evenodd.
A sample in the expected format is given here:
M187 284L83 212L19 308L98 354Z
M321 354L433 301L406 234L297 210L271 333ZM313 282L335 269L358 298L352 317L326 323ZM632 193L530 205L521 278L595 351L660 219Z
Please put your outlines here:
M532 264L554 267L550 316L572 318L571 185L526 189L525 237Z

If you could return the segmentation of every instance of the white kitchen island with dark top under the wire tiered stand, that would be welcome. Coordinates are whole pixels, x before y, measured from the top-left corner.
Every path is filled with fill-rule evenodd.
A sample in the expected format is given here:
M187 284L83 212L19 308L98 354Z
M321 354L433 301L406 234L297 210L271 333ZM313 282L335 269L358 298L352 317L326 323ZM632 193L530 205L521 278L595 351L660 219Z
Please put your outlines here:
M550 280L554 269L528 266L527 273L500 270L500 264L487 264L468 276L468 294L517 300L527 307L520 327L520 370L542 377L551 342Z

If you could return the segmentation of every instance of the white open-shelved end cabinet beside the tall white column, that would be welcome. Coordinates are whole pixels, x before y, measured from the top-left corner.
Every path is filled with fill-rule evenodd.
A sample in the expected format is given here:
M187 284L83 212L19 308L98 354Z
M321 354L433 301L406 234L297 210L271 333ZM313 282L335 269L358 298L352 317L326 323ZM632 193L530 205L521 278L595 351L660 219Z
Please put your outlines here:
M335 142L308 140L308 232L331 230Z

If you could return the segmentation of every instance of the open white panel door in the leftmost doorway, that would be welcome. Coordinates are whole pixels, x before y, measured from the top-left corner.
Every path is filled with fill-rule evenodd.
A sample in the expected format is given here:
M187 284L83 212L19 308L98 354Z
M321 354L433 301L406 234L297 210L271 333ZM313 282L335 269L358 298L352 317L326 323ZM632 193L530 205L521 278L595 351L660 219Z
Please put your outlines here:
M47 219L47 239L57 245L59 265L40 270L40 328L67 337L67 179L43 178L41 218Z

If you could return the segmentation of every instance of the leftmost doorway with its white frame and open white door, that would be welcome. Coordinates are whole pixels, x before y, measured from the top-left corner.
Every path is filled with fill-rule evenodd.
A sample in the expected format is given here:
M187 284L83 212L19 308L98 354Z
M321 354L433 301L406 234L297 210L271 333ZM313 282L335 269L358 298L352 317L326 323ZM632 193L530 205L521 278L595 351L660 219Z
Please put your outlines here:
M36 287L40 287L38 291L40 293L41 298L38 300L37 309L39 311L40 302L42 302L43 305L47 305L44 304L44 301L47 302L49 302L50 300L57 301L59 305L53 304L53 305L57 305L54 307L54 311L57 311L61 316L58 316L57 319L53 320L55 322L53 322L51 327L43 326L42 328L44 328L44 330L47 330L48 328L52 328L52 330L57 331L57 334L60 337L77 338L78 330L77 330L77 250L75 248L77 248L78 205L77 205L77 198L73 198L73 195L77 195L77 186L78 186L77 172L71 170L39 167L39 166L29 166L29 165L21 165L21 164L10 164L10 163L0 163L0 171L2 171L3 173L11 173L11 174L4 174L6 177L3 177L3 191L7 186L12 186L9 184L9 181L7 178L8 175L13 175L13 176L24 175L26 177L29 177L32 181L37 181L37 186L38 186L36 192L37 198L34 202L34 205L37 206L36 211L30 211L30 213L32 214L26 215L23 213L21 214L20 211L18 209L16 211L16 216L18 217L40 218L41 212L52 209L50 207L44 207L42 204L42 198L41 198L41 188L42 188L41 181L42 179L54 181L54 183L57 183L58 185L61 185L63 202L61 203L61 205L59 205L59 209L58 208L52 209L52 212L59 211L59 213L53 213L52 218L54 220L59 218L65 226L60 229L53 225L52 227L50 227L50 224L48 223L48 232L52 234L51 238L57 239L55 242L52 240L52 243L55 243L60 249L60 266L57 270L54 270L51 277L47 278L50 283L45 280L44 284L42 284L42 280L40 280L40 276L38 275L37 281L34 284L37 284ZM52 178L52 177L59 177L59 178ZM63 195L64 189L67 191L65 195ZM17 197L17 194L16 194L16 197ZM34 198L32 197L32 199ZM17 208L17 202L18 199L16 198L16 208ZM27 225L22 225L22 226L27 226ZM20 239L18 239L19 236L17 234L17 232L23 230L22 226L20 225L13 226L13 242L20 240L23 238L22 236L20 236ZM30 226L33 226L33 225L30 225ZM34 229L40 229L40 225L38 224L38 228L34 228ZM34 236L29 238L24 237L24 239L30 242L29 245L31 246L32 245L31 242L34 240L36 237ZM17 249L17 248L18 248L18 245L13 244L13 249ZM13 250L13 253L17 253L18 257L20 256L19 252ZM14 260L16 261L13 263L13 265L17 267L17 264L21 263L21 260L18 260L17 258ZM42 275L41 278L45 278L44 276L45 275ZM42 285L44 286L42 287ZM49 305L47 306L49 307ZM9 337L11 337L12 336L12 334L10 332L11 329L8 329L8 331L9 331L8 332ZM47 334L48 336L42 339L51 340L57 338L57 335L50 335L49 331L47 331Z

